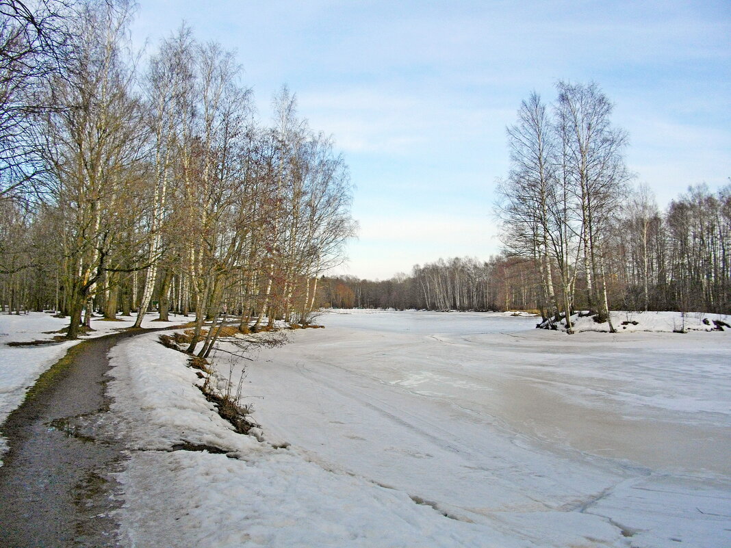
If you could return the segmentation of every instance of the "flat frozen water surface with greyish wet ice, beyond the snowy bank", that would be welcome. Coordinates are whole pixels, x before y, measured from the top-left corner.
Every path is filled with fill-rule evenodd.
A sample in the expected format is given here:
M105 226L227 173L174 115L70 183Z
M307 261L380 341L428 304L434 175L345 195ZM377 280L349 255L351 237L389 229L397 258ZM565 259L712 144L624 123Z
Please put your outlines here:
M484 313L319 321L263 351L246 388L265 433L311 462L518 546L731 546L728 333L569 336Z

